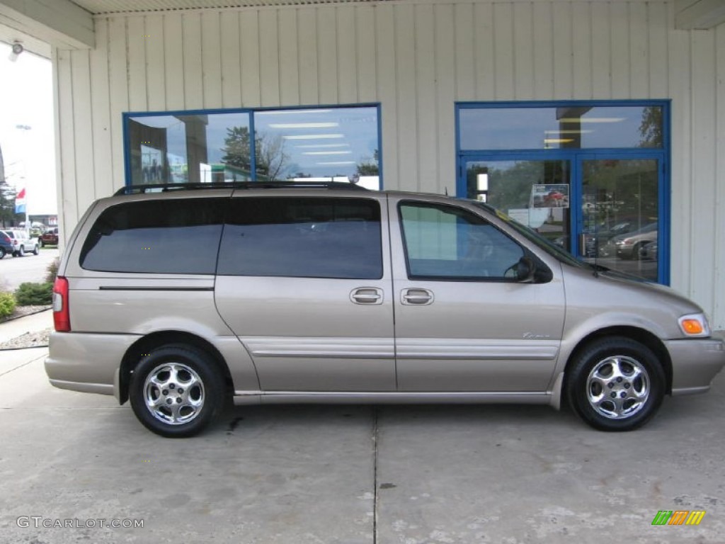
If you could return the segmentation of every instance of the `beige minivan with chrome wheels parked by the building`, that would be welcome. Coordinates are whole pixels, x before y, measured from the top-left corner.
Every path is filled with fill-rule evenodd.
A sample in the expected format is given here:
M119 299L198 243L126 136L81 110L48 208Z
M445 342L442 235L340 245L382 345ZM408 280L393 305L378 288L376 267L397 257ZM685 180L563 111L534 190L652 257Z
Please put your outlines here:
M597 429L705 392L697 305L589 265L481 202L353 184L126 188L54 286L51 384L167 437L234 403L530 403Z

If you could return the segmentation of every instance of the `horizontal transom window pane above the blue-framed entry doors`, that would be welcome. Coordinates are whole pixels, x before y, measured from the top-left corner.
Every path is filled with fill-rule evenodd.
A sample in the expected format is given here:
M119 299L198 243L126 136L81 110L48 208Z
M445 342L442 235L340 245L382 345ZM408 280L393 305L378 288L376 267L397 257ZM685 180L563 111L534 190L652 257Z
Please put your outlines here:
M663 148L663 108L461 108L460 149Z

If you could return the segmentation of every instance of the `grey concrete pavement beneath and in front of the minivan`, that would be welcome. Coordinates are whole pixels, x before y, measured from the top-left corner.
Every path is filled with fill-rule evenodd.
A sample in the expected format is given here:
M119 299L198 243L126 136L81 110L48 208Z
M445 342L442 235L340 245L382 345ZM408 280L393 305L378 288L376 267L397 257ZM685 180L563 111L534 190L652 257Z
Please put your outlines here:
M233 408L200 437L168 440L112 397L51 387L45 353L0 353L0 543L725 535L723 375L625 434L542 407L284 405ZM655 527L660 510L706 514Z

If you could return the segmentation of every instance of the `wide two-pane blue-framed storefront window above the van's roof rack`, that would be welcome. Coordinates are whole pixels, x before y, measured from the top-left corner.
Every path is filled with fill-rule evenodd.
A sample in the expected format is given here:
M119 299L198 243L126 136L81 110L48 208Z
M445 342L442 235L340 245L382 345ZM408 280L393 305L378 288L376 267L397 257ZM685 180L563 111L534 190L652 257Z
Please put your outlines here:
M380 189L377 107L130 115L131 184L345 181Z

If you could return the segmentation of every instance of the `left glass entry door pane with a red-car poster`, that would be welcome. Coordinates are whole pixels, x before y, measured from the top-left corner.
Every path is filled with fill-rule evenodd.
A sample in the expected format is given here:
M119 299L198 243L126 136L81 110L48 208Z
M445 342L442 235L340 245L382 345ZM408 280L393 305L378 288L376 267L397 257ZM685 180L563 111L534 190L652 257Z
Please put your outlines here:
M571 251L571 161L469 158L458 194L488 202Z

